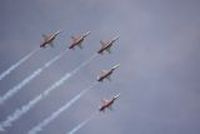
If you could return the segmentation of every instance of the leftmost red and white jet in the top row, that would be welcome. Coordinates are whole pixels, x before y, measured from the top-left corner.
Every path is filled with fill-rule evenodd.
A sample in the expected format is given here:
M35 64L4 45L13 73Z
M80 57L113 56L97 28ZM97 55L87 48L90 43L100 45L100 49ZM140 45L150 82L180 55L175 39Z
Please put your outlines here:
M60 34L60 31L57 31L55 33L49 34L49 35L45 35L43 34L43 43L40 45L40 47L46 48L48 45L50 45L51 47L53 47L53 41L56 39L56 36L58 34Z

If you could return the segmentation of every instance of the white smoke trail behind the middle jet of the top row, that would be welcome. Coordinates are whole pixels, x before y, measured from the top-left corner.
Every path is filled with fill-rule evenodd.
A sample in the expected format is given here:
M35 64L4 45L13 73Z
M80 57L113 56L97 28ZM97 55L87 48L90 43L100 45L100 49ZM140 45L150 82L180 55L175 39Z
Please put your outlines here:
M65 51L66 52L66 51ZM28 84L31 80L33 80L36 76L38 76L43 70L48 68L51 64L56 62L58 59L60 59L62 56L64 56L65 52L60 53L50 61L48 61L44 66L38 68L35 70L31 75L26 77L22 82L20 82L18 85L14 86L13 88L9 89L5 95L0 97L0 104L3 104L6 100L13 97L17 92L19 92L26 84Z

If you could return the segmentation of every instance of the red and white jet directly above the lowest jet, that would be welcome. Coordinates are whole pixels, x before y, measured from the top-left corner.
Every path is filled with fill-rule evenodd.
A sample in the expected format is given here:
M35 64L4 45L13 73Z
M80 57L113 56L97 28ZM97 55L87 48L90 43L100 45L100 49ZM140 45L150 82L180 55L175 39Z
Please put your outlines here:
M120 64L113 66L110 70L102 70L101 74L97 76L97 81L102 82L105 78L111 81L111 75L115 69L117 69Z

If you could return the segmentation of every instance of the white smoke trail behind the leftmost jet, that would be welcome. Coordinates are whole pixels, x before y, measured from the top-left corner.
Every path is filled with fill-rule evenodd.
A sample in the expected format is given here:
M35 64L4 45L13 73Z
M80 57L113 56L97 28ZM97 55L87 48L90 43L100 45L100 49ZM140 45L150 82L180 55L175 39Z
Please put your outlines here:
M15 70L19 65L21 65L22 63L24 63L25 61L27 61L33 54L35 54L37 51L39 50L39 48L33 50L32 52L30 52L28 55L26 55L25 57L23 57L22 59L20 59L17 63L15 63L14 65L12 65L11 67L9 67L6 71L4 71L1 75L0 75L0 80L2 80L4 77L6 77L7 75L9 75L13 70Z

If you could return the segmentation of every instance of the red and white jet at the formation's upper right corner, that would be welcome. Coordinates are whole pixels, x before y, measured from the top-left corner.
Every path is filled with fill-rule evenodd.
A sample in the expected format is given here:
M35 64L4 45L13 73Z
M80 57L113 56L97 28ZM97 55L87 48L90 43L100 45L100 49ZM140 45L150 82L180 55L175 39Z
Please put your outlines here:
M97 51L98 54L103 54L104 51L107 51L108 53L111 53L111 47L113 45L113 43L115 41L117 41L119 39L119 36L113 38L112 40L110 41L100 41L101 43L101 48Z

